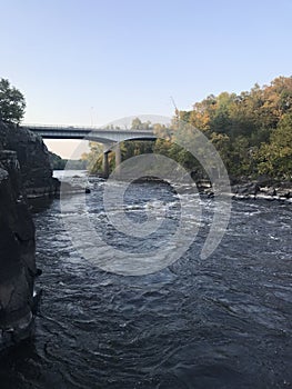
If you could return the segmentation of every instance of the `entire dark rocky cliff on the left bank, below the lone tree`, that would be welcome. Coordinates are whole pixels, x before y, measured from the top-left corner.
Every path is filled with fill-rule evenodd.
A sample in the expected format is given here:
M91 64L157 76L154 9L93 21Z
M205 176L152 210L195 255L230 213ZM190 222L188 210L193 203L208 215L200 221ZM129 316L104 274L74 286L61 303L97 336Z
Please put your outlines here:
M28 197L56 196L41 138L0 123L0 350L33 333L34 225Z

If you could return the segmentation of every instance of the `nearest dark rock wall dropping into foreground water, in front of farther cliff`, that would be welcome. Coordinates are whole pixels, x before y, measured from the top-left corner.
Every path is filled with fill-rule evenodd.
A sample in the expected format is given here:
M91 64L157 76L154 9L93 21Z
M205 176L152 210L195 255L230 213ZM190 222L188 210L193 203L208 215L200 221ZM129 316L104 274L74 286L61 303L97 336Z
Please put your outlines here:
M0 151L0 349L32 333L34 226L17 153Z

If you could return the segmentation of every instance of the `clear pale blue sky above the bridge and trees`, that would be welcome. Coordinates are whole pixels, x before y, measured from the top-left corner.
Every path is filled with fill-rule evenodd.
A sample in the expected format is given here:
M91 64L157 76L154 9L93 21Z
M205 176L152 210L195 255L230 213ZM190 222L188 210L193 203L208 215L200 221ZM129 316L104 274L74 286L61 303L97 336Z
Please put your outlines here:
M24 121L171 116L292 73L291 0L0 0L0 77Z

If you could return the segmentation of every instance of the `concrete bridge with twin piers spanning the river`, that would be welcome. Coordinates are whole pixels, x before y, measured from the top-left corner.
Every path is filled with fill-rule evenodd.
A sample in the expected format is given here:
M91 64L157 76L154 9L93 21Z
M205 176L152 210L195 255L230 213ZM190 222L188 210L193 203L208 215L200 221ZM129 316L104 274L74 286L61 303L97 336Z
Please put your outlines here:
M115 152L115 168L121 163L120 142L124 140L155 140L152 129L117 130L94 127L22 124L21 128L38 133L43 139L84 139L103 144L102 169L109 176L109 152Z

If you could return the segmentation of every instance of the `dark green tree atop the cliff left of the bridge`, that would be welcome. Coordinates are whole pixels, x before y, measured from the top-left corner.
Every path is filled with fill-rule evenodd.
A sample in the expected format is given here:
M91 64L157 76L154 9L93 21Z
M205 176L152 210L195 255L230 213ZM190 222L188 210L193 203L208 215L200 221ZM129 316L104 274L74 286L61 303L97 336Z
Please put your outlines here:
M9 80L0 80L0 120L18 124L24 116L26 100L23 94L10 86Z

